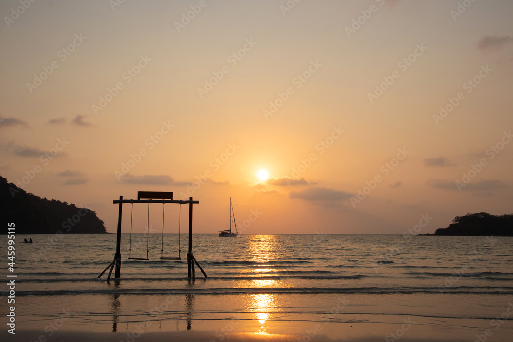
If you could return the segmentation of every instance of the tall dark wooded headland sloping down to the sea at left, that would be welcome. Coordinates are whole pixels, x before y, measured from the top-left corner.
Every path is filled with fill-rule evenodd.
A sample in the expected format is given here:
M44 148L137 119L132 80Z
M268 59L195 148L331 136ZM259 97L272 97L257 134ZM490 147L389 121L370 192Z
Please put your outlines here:
M27 193L0 176L0 222L16 234L105 234L104 222L87 208ZM7 229L2 229L7 234Z

